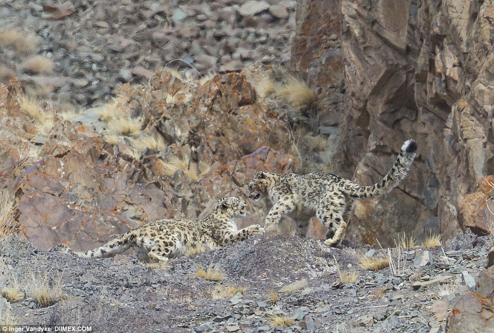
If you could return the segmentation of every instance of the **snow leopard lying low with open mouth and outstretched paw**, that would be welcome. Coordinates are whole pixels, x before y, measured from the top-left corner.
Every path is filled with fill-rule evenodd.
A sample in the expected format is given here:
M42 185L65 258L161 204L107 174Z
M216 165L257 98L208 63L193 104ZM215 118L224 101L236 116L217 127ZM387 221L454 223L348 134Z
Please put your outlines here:
M74 253L83 258L108 258L134 247L138 258L147 256L153 261L166 261L198 248L223 247L264 233L258 224L237 230L233 218L245 216L244 209L245 201L224 197L201 220L158 220L132 229L96 249ZM64 253L71 251L65 244L57 245L55 250Z

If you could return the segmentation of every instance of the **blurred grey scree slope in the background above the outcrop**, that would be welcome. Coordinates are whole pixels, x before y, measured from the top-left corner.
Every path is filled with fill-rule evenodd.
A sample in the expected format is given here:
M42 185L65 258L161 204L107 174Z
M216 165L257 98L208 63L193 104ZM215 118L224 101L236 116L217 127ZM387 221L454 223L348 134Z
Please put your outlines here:
M80 107L109 100L117 85L146 83L164 66L196 78L288 63L295 4L9 1L0 9L0 80L15 74L34 93ZM35 56L45 65L30 65Z

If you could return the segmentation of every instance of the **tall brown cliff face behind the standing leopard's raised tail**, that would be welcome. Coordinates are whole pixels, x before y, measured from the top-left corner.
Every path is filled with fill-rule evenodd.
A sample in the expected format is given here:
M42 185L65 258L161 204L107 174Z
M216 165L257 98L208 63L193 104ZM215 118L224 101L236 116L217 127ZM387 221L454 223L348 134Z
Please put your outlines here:
M491 1L297 4L293 68L329 84L322 96L344 83L343 103L320 112L333 114L321 133L339 126L334 171L376 182L403 141L419 141L408 178L388 200L357 203L350 234L389 244L403 231L450 237L478 225L482 202L468 194L494 173L493 13Z

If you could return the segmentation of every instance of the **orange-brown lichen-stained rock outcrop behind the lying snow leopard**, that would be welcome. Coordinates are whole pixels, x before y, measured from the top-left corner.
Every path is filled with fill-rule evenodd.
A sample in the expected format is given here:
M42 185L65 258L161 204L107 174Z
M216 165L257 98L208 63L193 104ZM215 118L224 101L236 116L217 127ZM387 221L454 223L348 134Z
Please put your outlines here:
M48 134L25 102L8 106L9 90L0 93L2 131L15 133L4 135L1 187L15 193L36 247L88 249L146 222L197 218L224 195L246 197L257 170L294 167L277 151L287 151L288 131L238 73L196 87L165 70L147 85L123 85L111 105L79 114L37 106L55 120ZM262 223L263 207L250 211L240 227Z

